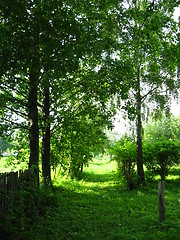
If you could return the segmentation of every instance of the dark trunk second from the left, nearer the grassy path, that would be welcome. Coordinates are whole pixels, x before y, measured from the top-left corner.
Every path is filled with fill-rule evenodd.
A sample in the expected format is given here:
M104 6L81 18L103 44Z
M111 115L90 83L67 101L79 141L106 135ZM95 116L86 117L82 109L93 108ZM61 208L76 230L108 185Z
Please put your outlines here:
M45 186L47 186L51 182L49 108L50 108L49 86L46 86L44 89L43 139L42 139L42 176L43 183Z

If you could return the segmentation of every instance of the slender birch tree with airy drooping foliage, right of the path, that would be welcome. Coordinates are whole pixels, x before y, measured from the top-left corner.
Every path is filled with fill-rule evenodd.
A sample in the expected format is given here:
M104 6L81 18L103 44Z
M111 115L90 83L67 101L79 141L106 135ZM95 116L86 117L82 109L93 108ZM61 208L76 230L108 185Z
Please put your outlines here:
M126 94L119 92L121 99L125 99L121 108L128 112L131 120L136 119L139 183L144 183L142 107L155 102L165 108L170 93L176 89L176 66L171 61L171 48L176 38L172 15L176 4L143 0L123 2L116 7L122 14L115 25L118 41L111 55L111 65L114 65L115 74L119 73L119 86L123 79L128 90L128 94L127 91Z

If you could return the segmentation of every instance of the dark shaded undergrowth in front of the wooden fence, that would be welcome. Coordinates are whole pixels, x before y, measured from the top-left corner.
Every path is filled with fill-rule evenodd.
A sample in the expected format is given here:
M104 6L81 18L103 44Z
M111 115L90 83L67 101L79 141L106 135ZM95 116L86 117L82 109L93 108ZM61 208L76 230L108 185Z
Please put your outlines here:
M10 194L9 194L10 195ZM7 199L10 196L6 195ZM33 226L41 222L48 209L58 206L51 188L35 189L27 184L15 196L13 205L7 201L7 210L0 214L0 240L32 240Z

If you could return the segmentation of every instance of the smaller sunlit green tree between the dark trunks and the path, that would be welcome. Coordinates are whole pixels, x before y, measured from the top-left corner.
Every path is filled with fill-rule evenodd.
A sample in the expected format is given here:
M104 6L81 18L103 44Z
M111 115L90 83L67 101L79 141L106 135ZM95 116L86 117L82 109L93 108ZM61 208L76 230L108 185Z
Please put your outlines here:
M64 173L72 178L79 177L83 165L88 164L93 153L103 151L106 142L104 128L111 126L110 112L91 98L81 99L82 104L76 97L68 101L69 109L63 115L61 131L56 127L52 135L53 166L60 164Z

